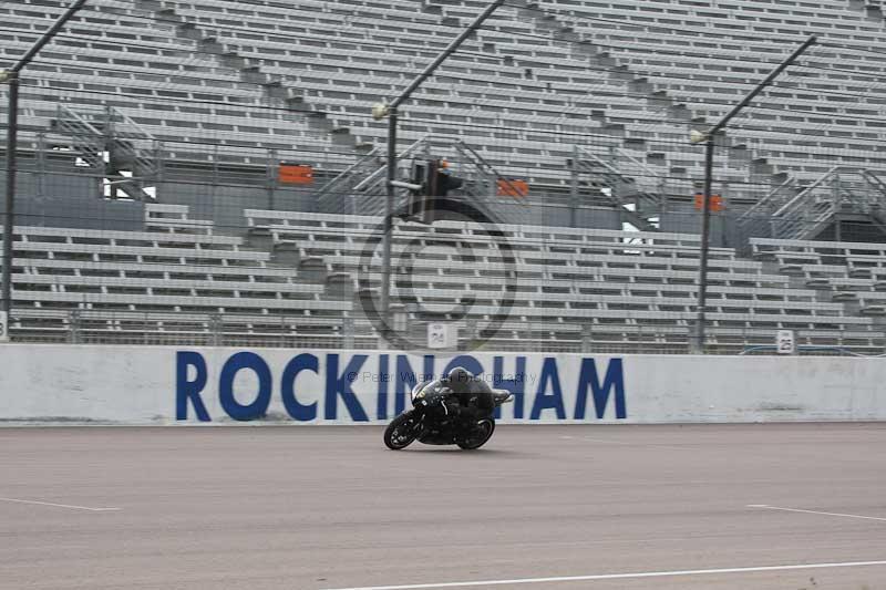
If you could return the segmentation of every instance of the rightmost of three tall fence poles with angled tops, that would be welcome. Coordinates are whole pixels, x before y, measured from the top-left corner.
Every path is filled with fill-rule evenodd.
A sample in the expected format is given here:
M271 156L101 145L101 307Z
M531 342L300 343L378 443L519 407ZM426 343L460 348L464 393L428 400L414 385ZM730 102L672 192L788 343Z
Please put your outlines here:
M690 143L698 144L704 142L704 195L701 206L701 252L699 255L699 297L697 304L696 318L696 338L692 341L692 352L696 354L704 353L704 312L708 304L708 258L710 253L710 234L711 234L711 185L713 184L713 153L714 142L717 134L729 125L729 122L739 114L739 112L748 106L754 97L760 94L764 87L770 85L773 80L779 77L789 65L794 63L800 55L802 55L810 46L817 41L816 35L811 35L791 55L780 63L770 74L760 82L742 101L732 107L732 110L720 120L720 122L711 127L709 131L701 133L692 131L690 133Z

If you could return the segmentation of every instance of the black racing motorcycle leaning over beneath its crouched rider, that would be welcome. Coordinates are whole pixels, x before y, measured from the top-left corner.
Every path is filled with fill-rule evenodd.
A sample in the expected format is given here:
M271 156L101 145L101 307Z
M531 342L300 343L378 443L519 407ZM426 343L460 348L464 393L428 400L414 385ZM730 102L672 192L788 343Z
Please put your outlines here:
M396 416L384 431L384 444L392 451L406 448L414 441L425 445L459 445L465 451L480 448L492 438L495 418L477 421L471 432L463 434L449 418L446 398L452 390L442 381L419 383L412 387L412 410ZM495 407L513 402L514 395L506 390L493 390Z

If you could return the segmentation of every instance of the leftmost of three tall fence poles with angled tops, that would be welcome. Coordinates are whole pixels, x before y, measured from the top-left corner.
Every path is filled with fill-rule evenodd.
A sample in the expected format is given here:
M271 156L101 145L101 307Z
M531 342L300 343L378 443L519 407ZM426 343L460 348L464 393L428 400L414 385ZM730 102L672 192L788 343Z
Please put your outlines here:
M2 273L2 307L0 311L7 313L7 321L10 321L9 313L12 311L12 232L14 231L16 215L16 172L18 166L17 149L19 139L19 72L21 72L43 46L52 41L71 18L85 6L86 0L75 0L73 4L53 23L43 35L37 40L31 49L9 70L0 72L0 83L9 84L9 105L7 125L7 199L3 219L3 273Z

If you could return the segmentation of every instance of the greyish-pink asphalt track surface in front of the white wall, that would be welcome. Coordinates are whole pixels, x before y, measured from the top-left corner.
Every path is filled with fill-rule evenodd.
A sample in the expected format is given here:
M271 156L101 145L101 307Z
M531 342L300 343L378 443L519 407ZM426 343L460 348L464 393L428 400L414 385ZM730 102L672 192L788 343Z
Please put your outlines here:
M886 588L886 424L0 428L0 497L2 589Z

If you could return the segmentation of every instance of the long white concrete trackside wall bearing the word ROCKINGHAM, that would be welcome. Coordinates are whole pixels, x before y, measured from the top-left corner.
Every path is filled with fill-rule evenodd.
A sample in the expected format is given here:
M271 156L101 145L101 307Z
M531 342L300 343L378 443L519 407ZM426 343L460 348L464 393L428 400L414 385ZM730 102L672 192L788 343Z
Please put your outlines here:
M238 360L245 368L236 369ZM7 344L0 421L225 423L239 411L293 423L382 423L402 407L398 397L405 403L395 392L411 389L413 373L439 375L451 361L367 351ZM502 422L886 420L886 359L482 353L456 362L518 393Z

